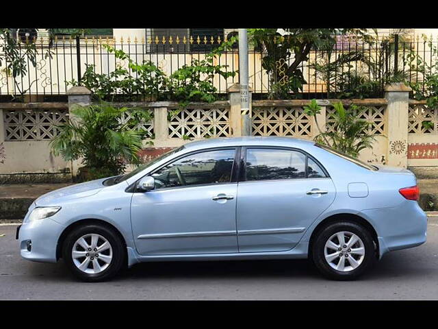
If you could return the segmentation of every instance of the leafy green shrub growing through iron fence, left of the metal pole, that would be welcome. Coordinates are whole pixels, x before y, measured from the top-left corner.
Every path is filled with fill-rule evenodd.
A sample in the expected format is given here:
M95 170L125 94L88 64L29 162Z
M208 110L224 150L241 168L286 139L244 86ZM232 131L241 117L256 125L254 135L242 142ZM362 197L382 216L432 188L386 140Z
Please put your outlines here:
M136 63L129 55L120 49L104 45L109 53L119 61L128 63L129 71L120 64L109 74L95 72L95 66L86 65L86 71L81 77L81 85L92 91L96 99L104 101L179 101L183 108L192 101L212 102L218 99L217 89L213 84L214 76L234 77L236 72L227 72L227 65L215 65L214 60L222 51L231 48L237 38L232 37L227 42L207 53L204 60L192 59L190 65L184 65L170 76L151 61ZM77 86L76 80L67 82Z

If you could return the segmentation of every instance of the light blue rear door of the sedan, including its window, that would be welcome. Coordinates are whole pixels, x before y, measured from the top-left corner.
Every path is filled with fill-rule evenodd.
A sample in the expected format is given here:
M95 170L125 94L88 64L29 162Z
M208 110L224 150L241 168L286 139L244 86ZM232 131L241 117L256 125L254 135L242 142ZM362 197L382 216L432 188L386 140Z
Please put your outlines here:
M331 178L298 149L242 147L242 162L236 212L239 252L292 249L333 202Z

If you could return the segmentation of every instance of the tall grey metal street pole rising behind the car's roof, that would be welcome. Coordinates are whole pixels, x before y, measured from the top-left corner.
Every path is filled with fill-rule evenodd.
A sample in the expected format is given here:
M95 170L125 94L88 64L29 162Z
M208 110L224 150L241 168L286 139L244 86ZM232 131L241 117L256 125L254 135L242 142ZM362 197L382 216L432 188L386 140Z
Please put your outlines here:
M246 35L246 29L239 29L239 83L242 135L250 136L251 121L248 90L248 37Z

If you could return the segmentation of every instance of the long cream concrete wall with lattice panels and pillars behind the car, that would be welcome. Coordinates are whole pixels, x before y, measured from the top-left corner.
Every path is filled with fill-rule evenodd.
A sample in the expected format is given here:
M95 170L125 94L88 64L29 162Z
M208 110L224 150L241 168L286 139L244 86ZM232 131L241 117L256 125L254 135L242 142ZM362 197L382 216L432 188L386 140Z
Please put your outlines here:
M400 167L438 165L438 117L424 101L409 100L404 85L387 86L383 99L342 100L348 108L359 106L359 119L369 121L376 137L371 149L361 152L361 160ZM320 127L333 129L333 103L320 100ZM72 88L68 103L0 103L0 181L12 175L75 174L81 166L55 157L49 141L68 119L68 108L91 103L90 92ZM289 136L313 140L318 135L315 119L307 116L307 100L251 101L253 136ZM152 139L144 141L144 160L173 147L205 138L242 136L240 94L238 86L229 88L228 101L190 103L179 109L170 101L113 103L114 106L151 111L150 122L134 129L144 129ZM120 119L126 122L129 112ZM429 123L424 123L429 122ZM151 142L153 145L151 146ZM3 180L4 181L4 180Z

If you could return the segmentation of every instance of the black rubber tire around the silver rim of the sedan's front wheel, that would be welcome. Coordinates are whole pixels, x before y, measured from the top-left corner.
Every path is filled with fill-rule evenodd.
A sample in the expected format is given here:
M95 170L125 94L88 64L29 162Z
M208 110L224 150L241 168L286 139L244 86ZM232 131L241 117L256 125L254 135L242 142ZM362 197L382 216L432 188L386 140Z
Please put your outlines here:
M77 268L75 263L73 263L73 246L81 236L86 234L99 234L103 236L112 247L112 260L110 265L100 273L86 273ZM64 259L64 263L66 263L68 269L70 269L77 278L85 282L99 282L116 276L116 274L125 267L126 257L126 248L117 232L114 232L112 228L99 224L86 224L75 228L66 236L62 245L62 258Z

